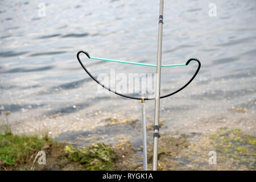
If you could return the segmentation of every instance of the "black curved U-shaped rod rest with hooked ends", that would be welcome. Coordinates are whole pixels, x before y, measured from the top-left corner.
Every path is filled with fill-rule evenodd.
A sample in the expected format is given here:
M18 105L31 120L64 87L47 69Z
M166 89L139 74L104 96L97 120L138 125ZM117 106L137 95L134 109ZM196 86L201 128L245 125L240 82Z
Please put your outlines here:
M103 88L109 90L110 92L113 92L113 93L117 94L118 96L122 96L122 97L126 97L126 98L131 98L131 99L135 99L135 100L141 100L141 97L127 96L127 95L125 95L125 94L121 94L121 93L115 92L114 90L108 88L108 86L103 85L103 84L102 84L100 81L98 81L94 76L92 76L92 74L90 74L90 72L85 68L84 64L82 64L82 61L80 60L80 57L79 57L80 53L84 53L84 54L90 59L89 53L86 52L86 51L79 51L79 52L77 52L76 57L77 57L77 60L79 61L79 63L81 64L82 68L84 68L84 71L85 71L91 78L93 78L93 80L96 81L99 85L101 85ZM170 94L166 94L166 95L164 95L164 96L160 96L160 98L169 97L169 96L172 96L172 95L174 95L174 94L180 92L180 91L183 90L186 86L188 86L188 85L191 83L192 80L194 80L194 78L196 77L197 73L199 72L199 69L200 69L200 67L201 67L201 63L200 63L200 61L199 61L198 59L196 59L196 58L191 58L191 59L189 59L189 60L187 61L186 65L188 65L191 61L197 61L198 67L197 67L197 70L196 70L195 74L194 74L194 75L192 76L192 78L187 82L187 84L185 84L185 85L182 86L180 89L177 89L176 91L174 91L174 92L172 92L172 93L170 93ZM146 98L144 98L144 100L155 100L155 98L148 98L148 97L146 97Z

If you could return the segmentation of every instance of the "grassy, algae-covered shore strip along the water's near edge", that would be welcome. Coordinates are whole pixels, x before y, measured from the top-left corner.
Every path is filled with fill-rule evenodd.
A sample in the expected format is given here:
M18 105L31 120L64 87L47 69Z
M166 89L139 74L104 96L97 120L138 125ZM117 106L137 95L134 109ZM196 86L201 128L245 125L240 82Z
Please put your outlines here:
M193 134L196 136L196 134ZM16 141L27 141L27 146L40 143L36 150L31 148L27 154L15 156L5 148L22 147ZM12 142L10 146L10 142ZM23 147L22 147L23 148ZM20 148L19 148L20 149ZM163 134L159 140L158 170L256 170L256 137L245 134L240 129L220 128L213 133L205 134L199 140L191 139L187 134ZM23 149L24 150L24 149ZM37 152L46 152L46 165L35 163ZM84 147L73 147L71 144L56 142L47 136L0 135L1 170L143 170L142 157L129 140L115 145L93 143ZM209 152L216 152L217 162L209 163ZM148 169L152 168L152 143L148 146ZM29 154L29 155L28 155ZM7 157L13 156L9 162ZM31 156L30 156L31 155ZM36 156L36 157L35 157Z

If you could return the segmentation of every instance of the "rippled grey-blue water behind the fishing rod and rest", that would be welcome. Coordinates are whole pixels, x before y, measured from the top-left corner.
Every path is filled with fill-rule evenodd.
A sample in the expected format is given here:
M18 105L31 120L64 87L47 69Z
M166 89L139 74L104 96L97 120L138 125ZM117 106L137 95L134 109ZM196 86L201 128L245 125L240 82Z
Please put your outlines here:
M30 125L26 130L45 127L60 140L76 140L74 136L93 130L110 143L122 134L137 143L139 126L104 127L102 119L139 119L140 102L96 94L98 86L79 65L76 53L85 50L94 57L156 64L159 2L45 2L45 17L38 16L38 1L0 2L0 111L11 111L10 122L18 131L22 122ZM232 106L246 108L245 117L239 117L249 118L248 127L255 128L256 3L217 0L217 16L210 17L211 2L164 2L162 64L185 63L190 57L202 64L186 89L161 101L166 131L195 131L190 127L204 125L205 118L237 118ZM126 75L155 72L150 67L84 61L94 76L110 75L110 68ZM179 88L195 70L195 63L163 68L162 94ZM146 102L146 110L152 123L154 101Z

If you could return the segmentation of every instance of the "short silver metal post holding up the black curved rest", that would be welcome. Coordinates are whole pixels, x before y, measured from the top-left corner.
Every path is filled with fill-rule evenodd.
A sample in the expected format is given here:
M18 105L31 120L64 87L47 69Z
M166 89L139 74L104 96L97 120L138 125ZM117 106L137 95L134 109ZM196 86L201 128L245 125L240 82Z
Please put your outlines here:
M141 98L141 116L143 130L143 166L144 171L147 171L147 132L146 132L146 107L144 97Z

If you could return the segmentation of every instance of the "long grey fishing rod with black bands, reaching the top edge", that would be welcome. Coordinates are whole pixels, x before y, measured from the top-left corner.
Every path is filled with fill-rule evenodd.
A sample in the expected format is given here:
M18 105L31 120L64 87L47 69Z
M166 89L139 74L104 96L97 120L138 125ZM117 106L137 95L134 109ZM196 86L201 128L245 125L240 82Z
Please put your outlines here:
M159 27L158 27L158 62L156 67L156 92L155 92L155 126L153 143L153 164L152 169L158 169L158 138L159 138L159 105L160 105L160 77L162 59L162 36L163 36L163 0L160 0Z

